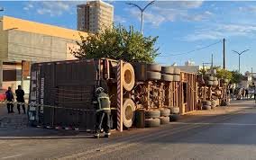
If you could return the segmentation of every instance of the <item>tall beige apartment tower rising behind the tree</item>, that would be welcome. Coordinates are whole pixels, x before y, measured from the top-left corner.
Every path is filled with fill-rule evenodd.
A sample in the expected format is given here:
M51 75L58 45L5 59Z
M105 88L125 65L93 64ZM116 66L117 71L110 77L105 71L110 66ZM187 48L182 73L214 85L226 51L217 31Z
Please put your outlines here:
M112 27L114 21L114 6L101 0L79 4L77 13L78 31L96 33Z

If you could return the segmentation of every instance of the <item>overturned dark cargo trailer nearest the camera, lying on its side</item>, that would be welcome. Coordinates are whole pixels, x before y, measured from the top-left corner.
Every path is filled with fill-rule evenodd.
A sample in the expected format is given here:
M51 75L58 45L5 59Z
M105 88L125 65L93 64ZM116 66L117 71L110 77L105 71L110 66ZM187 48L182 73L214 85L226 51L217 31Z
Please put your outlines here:
M155 127L197 110L197 75L176 67L109 58L32 65L32 126L93 130L97 86L106 88L112 128Z

